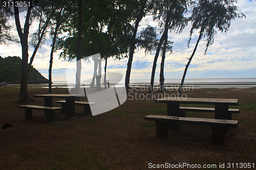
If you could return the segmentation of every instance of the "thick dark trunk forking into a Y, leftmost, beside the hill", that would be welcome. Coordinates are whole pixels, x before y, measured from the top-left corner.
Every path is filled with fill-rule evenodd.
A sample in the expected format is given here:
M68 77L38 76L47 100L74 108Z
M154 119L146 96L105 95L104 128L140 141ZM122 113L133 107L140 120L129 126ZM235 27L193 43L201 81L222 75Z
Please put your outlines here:
M15 4L17 1L13 1ZM30 1L32 6L32 1ZM20 77L20 95L19 99L17 100L17 103L27 103L28 99L28 34L29 34L29 19L31 14L32 7L28 8L28 12L26 15L26 20L24 23L24 30L22 31L22 28L20 26L19 21L19 11L18 7L14 6L14 18L15 18L15 25L17 28L18 36L20 39L20 44L22 45L22 69L21 69L21 77Z

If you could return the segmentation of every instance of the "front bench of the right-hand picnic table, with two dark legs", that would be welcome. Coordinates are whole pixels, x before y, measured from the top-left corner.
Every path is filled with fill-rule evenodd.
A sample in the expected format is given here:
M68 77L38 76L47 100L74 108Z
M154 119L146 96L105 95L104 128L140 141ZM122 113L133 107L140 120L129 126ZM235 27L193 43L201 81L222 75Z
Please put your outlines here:
M212 132L212 143L223 144L228 127L238 127L238 120L196 118L196 117L177 117L165 115L147 115L145 120L154 120L156 122L156 133L158 138L168 137L168 123L199 124L210 125Z

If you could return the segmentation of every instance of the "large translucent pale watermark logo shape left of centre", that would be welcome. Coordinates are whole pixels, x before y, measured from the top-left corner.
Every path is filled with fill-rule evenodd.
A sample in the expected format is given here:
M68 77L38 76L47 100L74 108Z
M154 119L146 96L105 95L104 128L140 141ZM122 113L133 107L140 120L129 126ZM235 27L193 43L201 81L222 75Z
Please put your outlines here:
M87 96L92 115L108 112L122 105L126 99L123 75L118 72L104 72L100 54L71 62L66 69L69 93ZM102 74L103 72L103 74Z

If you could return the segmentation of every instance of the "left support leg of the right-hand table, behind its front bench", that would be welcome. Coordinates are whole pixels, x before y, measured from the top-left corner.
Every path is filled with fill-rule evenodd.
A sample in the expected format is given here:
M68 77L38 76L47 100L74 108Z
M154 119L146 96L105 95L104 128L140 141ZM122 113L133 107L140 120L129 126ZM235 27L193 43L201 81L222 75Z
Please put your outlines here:
M168 116L181 116L180 115L180 104L167 104L167 115ZM178 130L180 129L179 123L168 123L169 130Z

